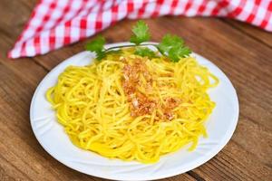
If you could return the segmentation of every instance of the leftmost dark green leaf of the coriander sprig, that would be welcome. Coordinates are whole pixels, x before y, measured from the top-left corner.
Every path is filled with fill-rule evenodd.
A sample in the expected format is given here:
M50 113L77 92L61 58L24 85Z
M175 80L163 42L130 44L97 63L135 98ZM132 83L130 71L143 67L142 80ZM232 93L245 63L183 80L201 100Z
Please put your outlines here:
M98 36L92 42L85 45L87 51L96 52L97 60L102 60L105 57L104 52L105 39L102 36Z

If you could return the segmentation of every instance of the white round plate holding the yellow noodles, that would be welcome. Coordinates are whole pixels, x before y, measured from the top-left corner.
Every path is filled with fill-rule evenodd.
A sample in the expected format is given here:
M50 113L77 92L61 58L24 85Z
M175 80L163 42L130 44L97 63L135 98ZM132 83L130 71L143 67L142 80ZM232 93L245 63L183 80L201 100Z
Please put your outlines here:
M107 47L128 43L108 44ZM91 176L115 180L151 180L175 176L207 162L228 143L238 123L238 97L228 77L207 59L193 53L201 65L209 68L219 78L219 86L209 90L216 108L207 120L209 138L199 138L198 147L192 151L181 148L175 153L160 157L156 164L144 165L136 161L124 162L119 159L101 157L91 151L75 147L45 100L45 91L52 87L58 75L68 65L86 65L92 62L92 52L80 52L65 60L50 71L35 90L30 108L31 126L35 137L43 148L67 167Z

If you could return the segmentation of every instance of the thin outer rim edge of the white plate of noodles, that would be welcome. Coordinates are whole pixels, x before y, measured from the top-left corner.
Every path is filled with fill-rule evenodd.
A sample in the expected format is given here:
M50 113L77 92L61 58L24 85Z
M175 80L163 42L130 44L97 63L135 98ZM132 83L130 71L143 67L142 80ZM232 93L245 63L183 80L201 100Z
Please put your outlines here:
M150 43L154 43L154 42L150 42ZM118 45L125 45L125 44L131 44L131 43L127 43L127 42L121 42L121 43L108 43L105 45L105 47L112 47L112 46L118 46ZM228 82L230 83L231 85L231 89L233 90L233 93L234 93L234 96L235 96L235 100L237 102L237 109L236 109L236 112L234 114L234 117L233 117L233 121L231 121L231 125L228 127L228 130L227 130L227 133L224 135L224 138L220 138L219 139L219 144L217 145L217 147L214 147L212 148L210 151L209 151L209 154L207 154L205 157L200 157L198 160L196 160L194 162L194 164L191 164L189 167L186 167L185 169L178 169L178 167L175 167L175 169L172 169L171 172L168 172L167 174L164 174L164 175L160 175L160 176L142 176L141 179L124 179L123 177L121 177L120 175L116 175L116 176L106 176L106 175L102 175L102 174L98 174L96 172L86 172L85 170L81 169L81 168L78 168L78 167L73 167L73 164L70 164L69 162L66 162L65 160L62 160L61 157L55 157L54 154L52 153L51 150L49 150L48 148L46 148L42 141L40 140L39 136L37 135L37 133L35 132L34 130L34 125L33 125L33 111L34 111L34 100L37 96L37 92L39 92L39 90L41 89L42 87L42 84L43 84L43 81L46 80L46 78L49 76L49 74L52 72L52 71L55 71L58 67L62 66L63 63L67 63L67 62L70 62L71 60L73 60L75 57L82 57L82 59L86 56L89 56L92 52L87 52L87 51L83 51L83 52L78 52L76 54L74 54L73 56L63 60L63 62L60 62L58 63L55 67L53 67L53 69L51 71L49 71L43 78L42 81L39 82L38 86L36 87L36 89L34 90L34 96L31 100L31 104L30 104L30 123L31 123L31 127L32 127L32 130L34 132L34 136L35 138L38 140L39 144L42 146L42 148L44 148L44 150L50 155L52 156L53 158L55 158L56 160L58 160L59 162L61 162L63 165L65 165L66 167L70 167L70 168L73 168L74 170L77 170L81 173L84 173L84 174L87 174L89 176L98 176L98 177L102 177L102 178L107 178L107 179L114 179L114 180L155 180L155 179L161 179L161 178L166 178L166 177L170 177L170 176L177 176L177 175L180 175L180 174L183 174L185 172L188 172L189 170L192 170L196 167L199 167L203 164L205 164L206 162L209 161L209 159L211 159L212 157L215 157L220 150L222 150L227 144L228 144L228 141L230 140L230 138L232 137L232 135L234 134L234 131L238 125L238 116L239 116L239 103L238 103L238 94L237 94L237 91L235 90L232 82L228 79L228 76L224 73L224 71L222 71L221 69L219 69L219 67L214 64L213 62L209 61L209 59L199 55L198 53L196 52L193 52L192 54L193 55L197 55L199 57L201 57L202 59L204 59L205 61L208 61L210 62L213 66L215 66L216 68L218 68L218 70L220 71L221 74L223 74Z

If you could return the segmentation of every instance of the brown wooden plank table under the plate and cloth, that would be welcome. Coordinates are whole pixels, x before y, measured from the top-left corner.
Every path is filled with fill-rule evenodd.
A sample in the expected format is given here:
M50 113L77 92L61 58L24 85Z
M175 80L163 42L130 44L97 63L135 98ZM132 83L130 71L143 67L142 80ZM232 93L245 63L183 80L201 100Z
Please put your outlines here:
M86 43L34 58L7 59L34 4L0 1L0 180L102 180L63 166L34 138L29 106L37 84L55 65L82 52ZM215 62L233 82L240 106L238 127L216 157L165 180L272 180L272 33L218 18L160 17L146 22L153 41L176 33L194 52ZM126 41L134 23L121 21L102 35L108 43Z

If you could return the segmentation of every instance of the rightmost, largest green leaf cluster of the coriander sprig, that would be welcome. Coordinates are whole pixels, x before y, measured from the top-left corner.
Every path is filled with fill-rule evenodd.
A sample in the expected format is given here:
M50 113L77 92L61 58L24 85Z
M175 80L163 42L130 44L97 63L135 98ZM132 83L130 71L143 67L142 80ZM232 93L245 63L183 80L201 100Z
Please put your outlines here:
M162 38L157 48L162 55L169 57L172 62L179 62L180 58L188 56L191 52L179 36L170 34L166 34Z

